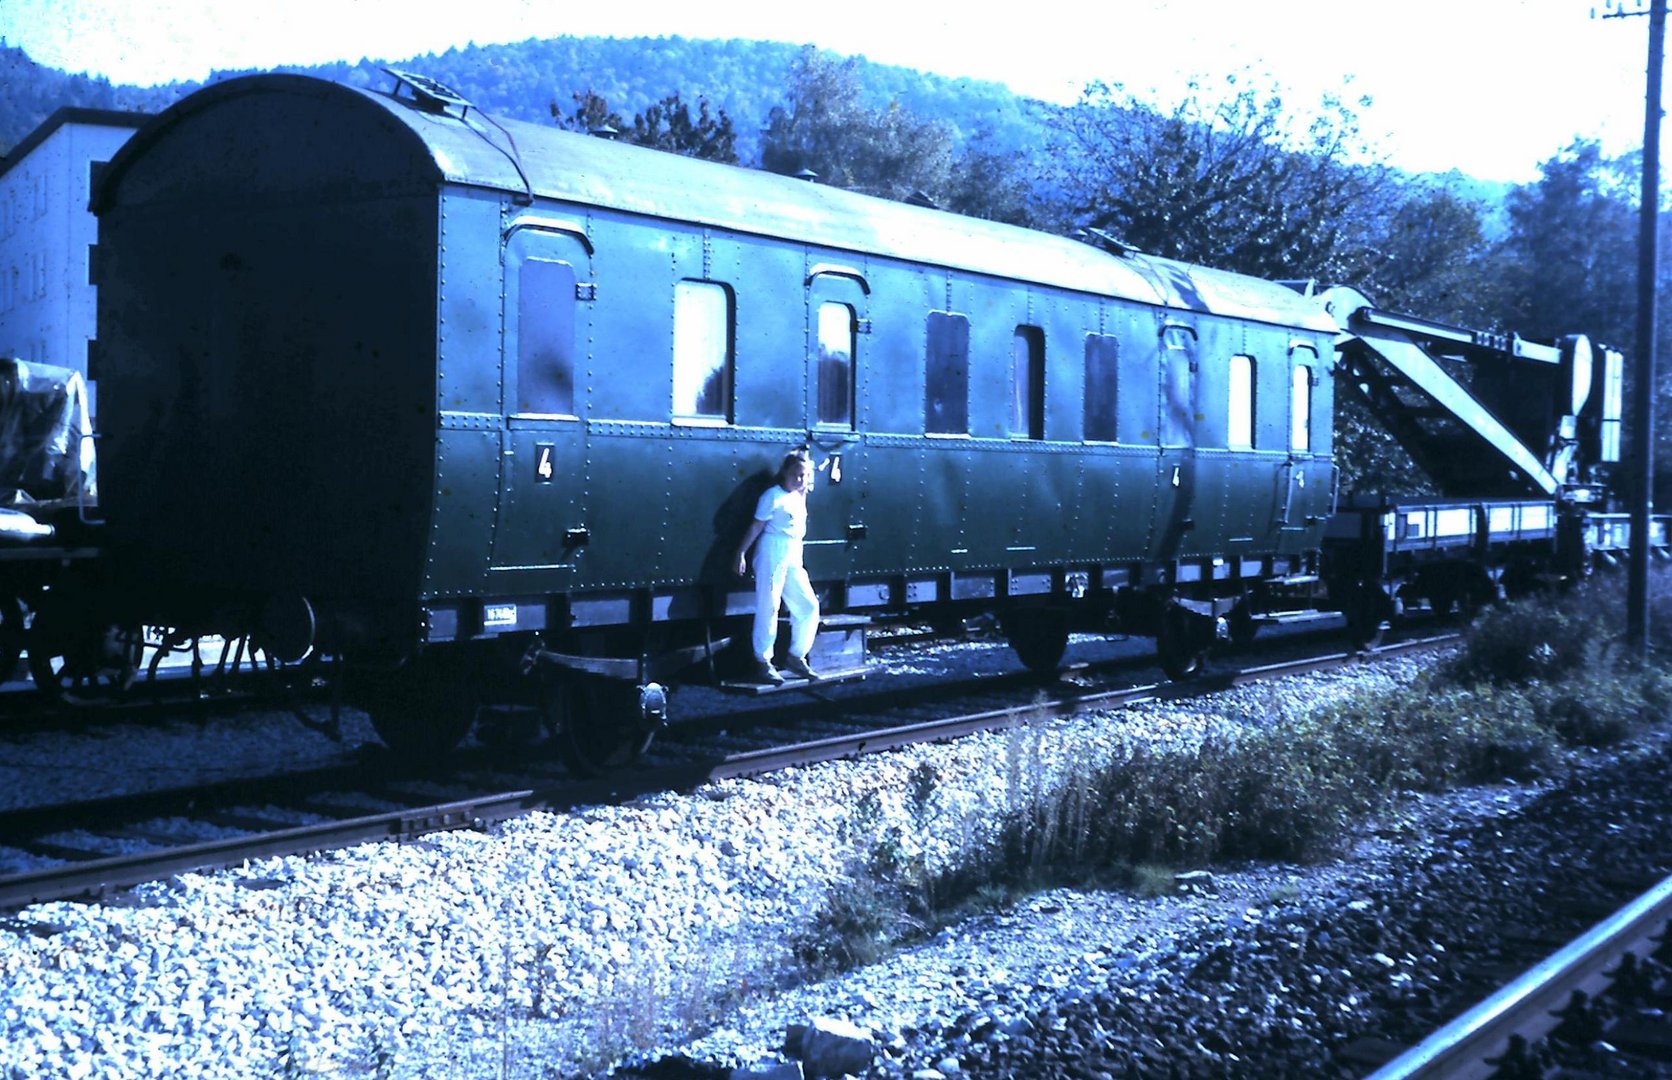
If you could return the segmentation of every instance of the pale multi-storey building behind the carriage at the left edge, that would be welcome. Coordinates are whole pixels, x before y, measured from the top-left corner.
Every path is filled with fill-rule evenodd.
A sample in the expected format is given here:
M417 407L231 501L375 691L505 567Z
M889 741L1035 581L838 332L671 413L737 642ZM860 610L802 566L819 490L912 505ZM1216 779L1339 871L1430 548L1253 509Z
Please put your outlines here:
M94 171L145 119L59 109L0 159L0 356L87 374L95 336L89 262L99 239L87 209Z

